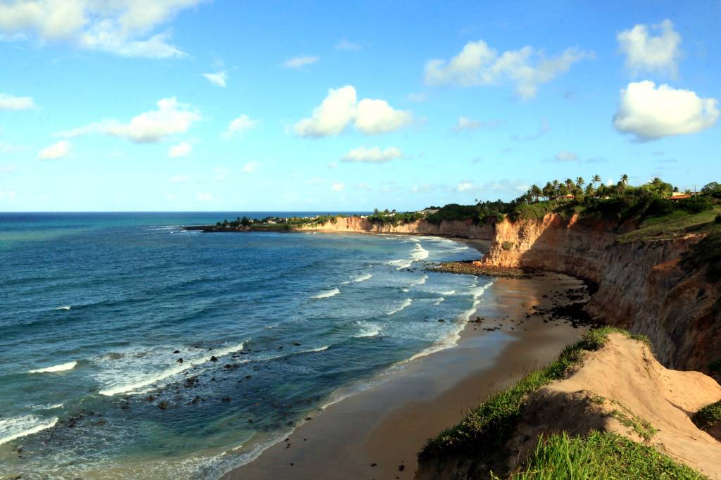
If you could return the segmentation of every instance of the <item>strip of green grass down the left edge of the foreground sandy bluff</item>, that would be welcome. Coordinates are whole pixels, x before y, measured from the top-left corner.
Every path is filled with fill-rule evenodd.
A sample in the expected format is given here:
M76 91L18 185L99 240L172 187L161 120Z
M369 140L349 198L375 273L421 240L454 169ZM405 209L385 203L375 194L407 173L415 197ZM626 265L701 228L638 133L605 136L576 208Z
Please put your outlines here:
M566 347L553 363L529 373L516 385L490 396L472 409L461 423L428 440L419 454L420 458L454 453L470 453L481 462L490 463L503 458L503 448L516 429L526 395L563 378L570 368L580 363L584 352L601 348L611 333L621 333L649 344L647 338L632 336L622 329L604 326L590 330Z

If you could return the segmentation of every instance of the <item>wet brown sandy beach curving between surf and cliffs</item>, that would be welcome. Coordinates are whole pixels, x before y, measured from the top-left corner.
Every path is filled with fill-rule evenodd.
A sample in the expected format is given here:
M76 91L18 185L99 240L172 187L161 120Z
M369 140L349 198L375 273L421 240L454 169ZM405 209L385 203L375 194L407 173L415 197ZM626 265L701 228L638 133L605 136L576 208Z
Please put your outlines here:
M477 311L483 320L466 324L456 346L407 362L384 381L328 406L224 478L411 479L428 438L549 363L585 332L534 314L534 308L569 303L566 292L581 287L557 274L495 280Z

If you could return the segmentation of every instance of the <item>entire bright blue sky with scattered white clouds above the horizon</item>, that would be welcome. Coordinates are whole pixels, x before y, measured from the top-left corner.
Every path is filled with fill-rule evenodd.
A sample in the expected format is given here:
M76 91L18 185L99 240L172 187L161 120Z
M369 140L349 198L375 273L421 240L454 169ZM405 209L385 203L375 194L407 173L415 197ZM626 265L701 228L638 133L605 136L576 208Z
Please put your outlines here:
M0 210L721 180L721 3L0 0Z

